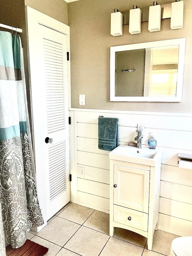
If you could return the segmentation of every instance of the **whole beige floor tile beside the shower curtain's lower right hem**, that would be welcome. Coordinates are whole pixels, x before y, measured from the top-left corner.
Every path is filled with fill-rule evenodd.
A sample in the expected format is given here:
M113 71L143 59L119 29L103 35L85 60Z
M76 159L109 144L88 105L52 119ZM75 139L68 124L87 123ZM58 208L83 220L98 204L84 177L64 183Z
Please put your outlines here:
M80 225L76 223L56 217L38 232L37 235L57 245L63 246L79 227Z

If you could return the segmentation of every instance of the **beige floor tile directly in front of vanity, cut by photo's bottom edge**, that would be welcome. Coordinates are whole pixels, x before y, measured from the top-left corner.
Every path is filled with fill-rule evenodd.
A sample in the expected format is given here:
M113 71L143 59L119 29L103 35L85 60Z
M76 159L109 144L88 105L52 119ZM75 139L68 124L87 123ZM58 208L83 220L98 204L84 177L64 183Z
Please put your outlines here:
M141 256L143 249L140 246L110 237L100 256Z

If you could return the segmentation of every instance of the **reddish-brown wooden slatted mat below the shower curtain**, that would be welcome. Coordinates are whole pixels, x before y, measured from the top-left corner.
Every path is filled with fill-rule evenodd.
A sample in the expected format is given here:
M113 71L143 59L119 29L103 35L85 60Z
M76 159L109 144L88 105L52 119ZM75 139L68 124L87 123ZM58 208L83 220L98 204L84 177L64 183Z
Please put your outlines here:
M43 256L48 250L48 248L27 239L20 248L13 249L8 245L6 256Z

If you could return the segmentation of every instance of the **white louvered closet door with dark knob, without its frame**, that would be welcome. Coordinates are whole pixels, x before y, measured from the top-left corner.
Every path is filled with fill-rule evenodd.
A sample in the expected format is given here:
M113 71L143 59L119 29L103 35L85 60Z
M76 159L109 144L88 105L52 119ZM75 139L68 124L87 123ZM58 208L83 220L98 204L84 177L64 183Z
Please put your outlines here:
M41 27L44 74L47 220L70 201L66 35Z

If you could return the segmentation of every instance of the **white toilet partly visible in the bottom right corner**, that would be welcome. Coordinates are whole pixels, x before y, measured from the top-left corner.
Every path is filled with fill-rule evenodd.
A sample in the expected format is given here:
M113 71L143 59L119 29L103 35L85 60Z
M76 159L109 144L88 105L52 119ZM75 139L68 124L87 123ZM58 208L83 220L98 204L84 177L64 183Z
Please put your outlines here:
M171 243L170 256L192 256L192 236L175 238Z

